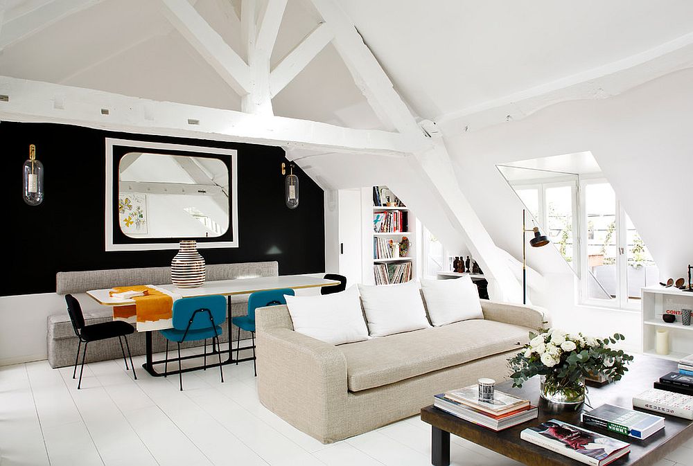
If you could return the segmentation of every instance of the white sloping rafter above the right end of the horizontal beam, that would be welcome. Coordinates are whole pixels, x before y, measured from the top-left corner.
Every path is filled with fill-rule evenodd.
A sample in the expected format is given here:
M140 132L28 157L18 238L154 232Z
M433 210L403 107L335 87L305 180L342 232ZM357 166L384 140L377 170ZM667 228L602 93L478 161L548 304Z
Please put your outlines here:
M312 1L319 15L333 29L337 52L376 114L381 119L387 118L403 134L420 133L409 108L393 89L392 82L344 10L333 0Z

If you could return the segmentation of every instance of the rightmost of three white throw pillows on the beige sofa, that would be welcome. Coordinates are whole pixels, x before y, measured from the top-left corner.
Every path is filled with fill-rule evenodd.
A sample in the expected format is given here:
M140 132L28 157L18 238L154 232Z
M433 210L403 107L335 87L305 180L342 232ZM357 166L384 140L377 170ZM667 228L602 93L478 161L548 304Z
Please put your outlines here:
M435 327L468 319L484 319L479 292L469 276L455 280L421 280L423 297Z

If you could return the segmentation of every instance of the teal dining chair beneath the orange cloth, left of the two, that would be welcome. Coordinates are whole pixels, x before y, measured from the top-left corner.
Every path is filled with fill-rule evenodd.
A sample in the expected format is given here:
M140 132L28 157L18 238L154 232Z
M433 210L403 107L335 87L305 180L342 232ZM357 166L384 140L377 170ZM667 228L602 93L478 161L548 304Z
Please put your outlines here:
M173 301L173 328L159 330L166 338L166 362L164 377L168 374L168 342L178 344L178 378L180 389L183 390L183 371L181 368L180 343L184 341L204 340L204 368L207 369L207 339L212 339L212 348L216 342L219 349L219 337L222 334L221 324L226 320L226 298L220 295L199 296L197 298L182 298ZM224 382L224 371L219 356L219 373Z

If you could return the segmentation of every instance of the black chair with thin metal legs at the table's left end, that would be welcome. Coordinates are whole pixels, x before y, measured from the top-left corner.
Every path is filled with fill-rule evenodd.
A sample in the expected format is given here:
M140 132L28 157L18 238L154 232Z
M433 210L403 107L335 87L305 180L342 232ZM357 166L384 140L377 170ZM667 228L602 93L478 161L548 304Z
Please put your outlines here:
M72 378L74 379L77 375L77 363L80 359L80 348L82 343L85 344L85 349L82 352L82 368L80 368L80 381L77 384L77 389L79 390L82 386L82 372L85 370L85 359L87 358L87 345L91 341L105 340L109 338L118 337L121 343L121 351L123 351L123 361L125 361L125 370L128 368L128 359L125 358L125 348L123 348L123 338L125 339L125 347L128 348L128 356L130 357L130 366L132 366L132 375L134 379L137 380L137 373L134 371L134 364L132 364L132 355L130 355L130 345L128 345L128 337L134 332L134 327L127 322L123 321L112 321L95 323L92 325L85 325L85 317L82 314L82 306L77 298L71 294L65 295L65 301L67 301L67 312L70 314L70 320L72 321L72 327L75 330L75 334L79 339L77 346L77 356L75 357L75 368L72 371ZM121 338L122 337L122 338Z

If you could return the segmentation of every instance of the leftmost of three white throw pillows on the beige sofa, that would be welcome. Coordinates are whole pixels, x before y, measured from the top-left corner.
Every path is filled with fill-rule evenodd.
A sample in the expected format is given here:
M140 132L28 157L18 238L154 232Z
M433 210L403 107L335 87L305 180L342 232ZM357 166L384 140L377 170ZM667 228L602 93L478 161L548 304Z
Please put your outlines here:
M296 332L340 345L368 339L356 286L321 296L284 296Z

